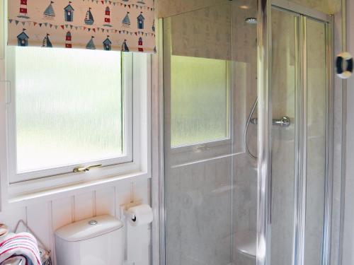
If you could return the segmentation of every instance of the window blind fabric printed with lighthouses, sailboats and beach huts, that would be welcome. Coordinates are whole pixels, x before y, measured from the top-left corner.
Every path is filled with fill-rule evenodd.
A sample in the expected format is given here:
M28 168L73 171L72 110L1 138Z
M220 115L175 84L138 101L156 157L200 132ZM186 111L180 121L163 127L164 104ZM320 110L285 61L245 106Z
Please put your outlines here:
M154 0L9 0L8 45L156 52Z

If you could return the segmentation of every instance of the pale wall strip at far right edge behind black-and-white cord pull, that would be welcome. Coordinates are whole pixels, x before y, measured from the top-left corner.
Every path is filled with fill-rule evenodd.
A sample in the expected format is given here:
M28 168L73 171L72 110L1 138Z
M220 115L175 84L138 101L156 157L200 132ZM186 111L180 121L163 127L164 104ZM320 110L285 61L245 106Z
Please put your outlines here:
M348 0L348 50L354 54L354 1ZM347 154L346 154L346 194L343 232L342 265L354 264L354 77L348 80L347 93Z

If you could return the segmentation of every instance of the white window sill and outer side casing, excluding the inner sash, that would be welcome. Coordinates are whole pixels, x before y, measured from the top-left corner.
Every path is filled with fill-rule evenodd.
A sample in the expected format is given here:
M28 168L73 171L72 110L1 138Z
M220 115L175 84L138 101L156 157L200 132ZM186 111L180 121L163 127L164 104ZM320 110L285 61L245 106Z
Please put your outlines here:
M130 183L139 179L151 177L151 61L148 56L132 56L132 76L126 78L132 82L132 93L135 97L132 104L135 112L132 113L132 162L119 165L107 165L89 172L70 172L62 175L24 180L13 178L14 165L9 163L9 151L16 150L8 146L8 131L6 126L0 126L0 145L4 146L0 152L0 211L8 208L37 204L38 202L74 196L84 192L93 192L96 189L113 187ZM0 68L2 67L0 61ZM4 82L3 82L4 83ZM8 83L6 88L10 89ZM1 85L1 82L0 82ZM0 89L0 123L6 125L6 91ZM9 94L8 94L9 95ZM10 100L9 100L10 101ZM6 103L6 104L5 104Z

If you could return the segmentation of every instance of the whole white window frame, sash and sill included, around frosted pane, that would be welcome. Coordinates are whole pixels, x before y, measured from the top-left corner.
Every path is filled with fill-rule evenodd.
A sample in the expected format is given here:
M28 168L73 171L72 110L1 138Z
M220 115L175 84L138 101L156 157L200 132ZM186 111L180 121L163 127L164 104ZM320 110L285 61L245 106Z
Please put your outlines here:
M0 0L0 15L4 13ZM4 9L2 9L4 8ZM0 16L1 17L1 16ZM4 18L5 16L2 16ZM93 165L101 161L83 163L55 170L25 173L16 176L16 126L13 84L13 47L6 47L6 22L0 18L0 193L1 209L13 203L26 203L53 194L63 194L78 189L95 189L127 178L151 177L151 56L149 54L122 53L122 83L124 94L125 124L123 134L128 137L123 155L105 160L104 166L87 172L69 172L78 166ZM43 49L43 48L38 48ZM11 54L12 53L12 54ZM12 57L12 58L11 58ZM12 62L12 63L11 63ZM124 139L124 136L123 136ZM127 148L128 147L128 148ZM103 162L103 161L102 161ZM113 183L114 182L114 183Z

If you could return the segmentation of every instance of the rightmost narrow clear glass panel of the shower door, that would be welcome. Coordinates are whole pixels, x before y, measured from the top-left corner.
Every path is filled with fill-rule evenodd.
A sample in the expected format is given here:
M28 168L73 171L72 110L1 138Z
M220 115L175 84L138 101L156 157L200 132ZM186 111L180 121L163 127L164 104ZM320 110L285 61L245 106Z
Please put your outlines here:
M307 205L304 264L321 264L326 179L326 29L307 20Z

